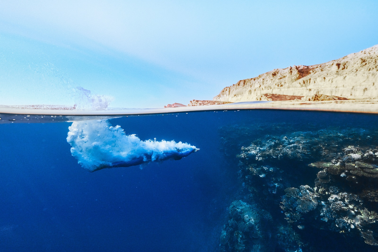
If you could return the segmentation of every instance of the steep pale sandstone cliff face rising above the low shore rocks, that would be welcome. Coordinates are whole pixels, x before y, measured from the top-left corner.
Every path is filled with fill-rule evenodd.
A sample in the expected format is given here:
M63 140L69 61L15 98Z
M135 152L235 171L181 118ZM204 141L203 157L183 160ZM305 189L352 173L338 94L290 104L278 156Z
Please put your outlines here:
M378 45L341 59L313 66L290 66L240 80L224 88L214 100L261 100L264 94L313 96L324 94L347 99L378 97Z

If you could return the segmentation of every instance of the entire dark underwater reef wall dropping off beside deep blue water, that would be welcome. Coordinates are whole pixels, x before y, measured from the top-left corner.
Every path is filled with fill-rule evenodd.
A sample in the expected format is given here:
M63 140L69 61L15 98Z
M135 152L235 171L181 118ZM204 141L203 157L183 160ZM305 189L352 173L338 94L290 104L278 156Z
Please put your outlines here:
M267 131L274 132L274 127ZM239 126L237 132L230 138L223 135L222 148L241 149L237 158L243 201L229 208L222 251L328 251L308 233L328 243L335 239L336 249L378 249L377 131L279 127L277 135L261 138L262 126L255 125ZM249 144L238 146L232 138ZM245 215L259 216L253 228L260 232L246 228Z

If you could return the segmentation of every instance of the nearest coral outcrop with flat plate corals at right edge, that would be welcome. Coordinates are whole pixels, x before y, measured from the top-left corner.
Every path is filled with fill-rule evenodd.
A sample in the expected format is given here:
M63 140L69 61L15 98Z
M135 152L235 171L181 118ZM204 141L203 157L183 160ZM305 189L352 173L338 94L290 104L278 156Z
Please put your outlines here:
M341 233L359 232L365 243L375 246L378 246L378 209L365 204L363 199L378 201L375 188L378 182L377 157L377 148L363 151L349 145L331 162L308 165L322 169L314 187L319 198L323 198L321 220L327 222L330 229Z

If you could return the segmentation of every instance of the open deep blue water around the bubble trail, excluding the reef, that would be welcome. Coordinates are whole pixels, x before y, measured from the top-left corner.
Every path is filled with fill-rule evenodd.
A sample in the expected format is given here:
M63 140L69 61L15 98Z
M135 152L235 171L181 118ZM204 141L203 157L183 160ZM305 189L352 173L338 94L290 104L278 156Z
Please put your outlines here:
M129 116L109 122L142 140L182 141L200 151L143 169L90 173L70 153L66 138L71 123L0 124L1 251L218 251L228 207L246 199L235 157L239 138L225 147L222 129L266 127L246 141L274 135L269 125L277 123L298 131L373 131L378 116L253 110ZM307 172L316 177L311 169L301 174ZM280 211L277 206L277 215ZM338 232L332 234L339 238ZM363 240L361 244L365 246ZM331 247L337 250L335 244ZM376 251L377 246L366 249Z

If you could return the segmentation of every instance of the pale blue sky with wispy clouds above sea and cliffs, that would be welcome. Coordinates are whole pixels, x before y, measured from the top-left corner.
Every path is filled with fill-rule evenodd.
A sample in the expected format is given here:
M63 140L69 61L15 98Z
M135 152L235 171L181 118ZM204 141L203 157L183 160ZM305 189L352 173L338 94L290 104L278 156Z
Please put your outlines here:
M2 1L0 104L212 99L238 80L378 44L378 1Z

